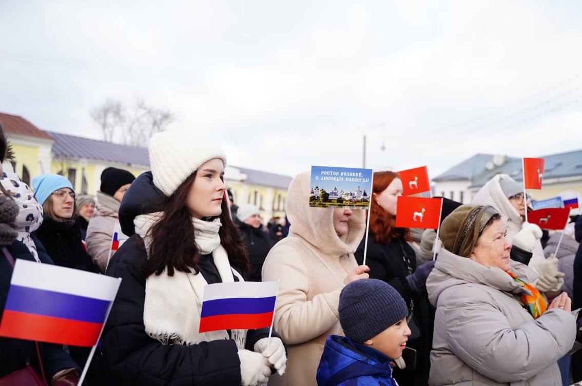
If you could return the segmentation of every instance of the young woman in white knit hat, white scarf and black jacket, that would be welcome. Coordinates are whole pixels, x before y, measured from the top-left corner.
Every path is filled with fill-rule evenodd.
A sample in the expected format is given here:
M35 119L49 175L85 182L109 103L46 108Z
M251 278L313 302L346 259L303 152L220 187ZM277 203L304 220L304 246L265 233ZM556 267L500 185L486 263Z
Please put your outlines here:
M106 272L122 278L101 339L108 384L267 384L286 363L281 339L267 347L268 328L198 333L204 286L242 281L249 268L223 199L223 151L165 132L149 152L151 172L119 208L131 237Z

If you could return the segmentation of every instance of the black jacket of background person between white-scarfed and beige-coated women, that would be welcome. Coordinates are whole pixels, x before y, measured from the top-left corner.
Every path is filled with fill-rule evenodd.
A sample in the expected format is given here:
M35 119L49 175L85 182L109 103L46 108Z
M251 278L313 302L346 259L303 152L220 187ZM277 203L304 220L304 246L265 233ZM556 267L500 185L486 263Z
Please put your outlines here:
M262 263L265 262L265 258L269 250L275 245L275 241L261 228L253 228L253 226L238 220L236 222L251 261L251 271L247 275L247 281L261 281Z

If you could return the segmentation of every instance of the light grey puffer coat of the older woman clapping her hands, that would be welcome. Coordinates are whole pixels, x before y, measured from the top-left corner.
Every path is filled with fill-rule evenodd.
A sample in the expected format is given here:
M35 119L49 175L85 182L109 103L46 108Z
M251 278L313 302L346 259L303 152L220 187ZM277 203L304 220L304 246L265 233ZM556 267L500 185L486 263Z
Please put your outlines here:
M511 262L531 282L537 273ZM429 384L560 386L556 361L574 345L576 316L551 309L534 320L520 298L527 292L504 271L442 249L427 279L437 306Z

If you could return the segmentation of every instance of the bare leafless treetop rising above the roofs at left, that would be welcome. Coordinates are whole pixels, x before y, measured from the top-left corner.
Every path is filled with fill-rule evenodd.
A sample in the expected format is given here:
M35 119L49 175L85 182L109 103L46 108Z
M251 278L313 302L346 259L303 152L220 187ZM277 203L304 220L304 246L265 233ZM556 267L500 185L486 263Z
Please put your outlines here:
M147 146L152 135L163 132L175 120L171 111L150 107L141 98L129 107L108 99L91 111L91 118L100 125L106 141L112 142L118 137L131 146Z

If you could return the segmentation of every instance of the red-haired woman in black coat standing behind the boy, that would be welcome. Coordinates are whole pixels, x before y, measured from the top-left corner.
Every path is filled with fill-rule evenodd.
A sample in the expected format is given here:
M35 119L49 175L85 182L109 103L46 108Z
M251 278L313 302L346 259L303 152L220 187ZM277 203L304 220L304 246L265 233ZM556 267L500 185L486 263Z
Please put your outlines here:
M416 253L408 243L412 240L410 230L396 228L398 196L402 196L402 180L397 173L374 173L365 264L370 267L368 273L371 278L381 279L393 286L409 307L412 335L407 346L417 350L416 370L411 371L412 363L406 363L408 370L396 369L394 378L401 385L426 385L432 346L432 311L425 283L434 263L426 263L416 269ZM364 260L364 241L356 251L359 264Z

